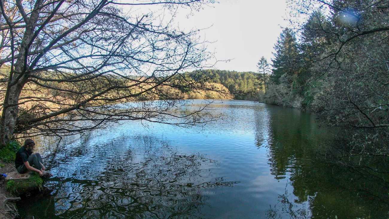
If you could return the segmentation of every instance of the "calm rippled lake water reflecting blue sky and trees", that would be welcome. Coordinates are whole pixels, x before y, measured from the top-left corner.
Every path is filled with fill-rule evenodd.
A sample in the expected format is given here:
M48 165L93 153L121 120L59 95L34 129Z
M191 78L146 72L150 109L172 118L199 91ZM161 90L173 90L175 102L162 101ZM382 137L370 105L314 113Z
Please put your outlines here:
M195 101L200 104L201 101ZM124 122L37 151L51 195L25 218L388 218L387 185L330 166L333 138L313 115L219 101L222 119L190 129Z

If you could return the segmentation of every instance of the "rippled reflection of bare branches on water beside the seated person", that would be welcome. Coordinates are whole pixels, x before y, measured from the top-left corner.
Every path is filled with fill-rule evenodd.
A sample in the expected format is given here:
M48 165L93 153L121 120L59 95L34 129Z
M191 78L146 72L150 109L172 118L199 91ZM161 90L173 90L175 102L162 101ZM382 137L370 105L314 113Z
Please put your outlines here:
M83 150L69 149L69 154L79 160L71 161L78 162L72 169L75 177L68 175L53 184L57 187L56 217L209 217L201 213L201 208L207 205L211 188L238 183L214 177L212 168L218 162L206 155L180 154L166 142L148 136L122 141L116 149L110 145L99 146L96 151L89 148L92 157L100 156L94 159L85 158ZM62 165L64 171L69 167L67 163Z

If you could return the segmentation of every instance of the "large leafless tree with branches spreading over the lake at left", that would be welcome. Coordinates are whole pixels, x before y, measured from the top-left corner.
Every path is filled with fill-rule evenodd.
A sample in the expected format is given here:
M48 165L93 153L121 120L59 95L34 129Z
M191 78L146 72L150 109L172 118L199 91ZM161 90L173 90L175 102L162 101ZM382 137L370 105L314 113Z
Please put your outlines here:
M197 30L173 25L179 7L212 1L0 3L0 145L15 133L64 135L121 120L212 120L203 108L179 105L183 90L210 89L207 78L183 71L203 67L211 54ZM150 7L162 12L145 13Z

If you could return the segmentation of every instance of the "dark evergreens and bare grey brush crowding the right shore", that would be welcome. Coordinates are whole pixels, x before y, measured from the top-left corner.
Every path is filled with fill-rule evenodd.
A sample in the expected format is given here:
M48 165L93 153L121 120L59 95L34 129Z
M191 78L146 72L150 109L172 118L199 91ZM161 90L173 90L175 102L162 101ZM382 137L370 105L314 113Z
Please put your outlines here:
M292 6L307 20L296 19L296 28L280 34L261 100L312 109L342 127L327 158L387 173L377 162L389 161L389 3L300 0Z

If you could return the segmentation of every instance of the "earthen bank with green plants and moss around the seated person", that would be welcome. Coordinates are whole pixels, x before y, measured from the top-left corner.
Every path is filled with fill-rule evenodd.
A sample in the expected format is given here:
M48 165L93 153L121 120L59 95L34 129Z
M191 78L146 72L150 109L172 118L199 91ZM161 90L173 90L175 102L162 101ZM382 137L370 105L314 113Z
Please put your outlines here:
M20 147L18 141L13 140L0 150L0 218L18 217L15 202L21 200L21 196L42 189L43 180L37 173L16 171L14 161Z

